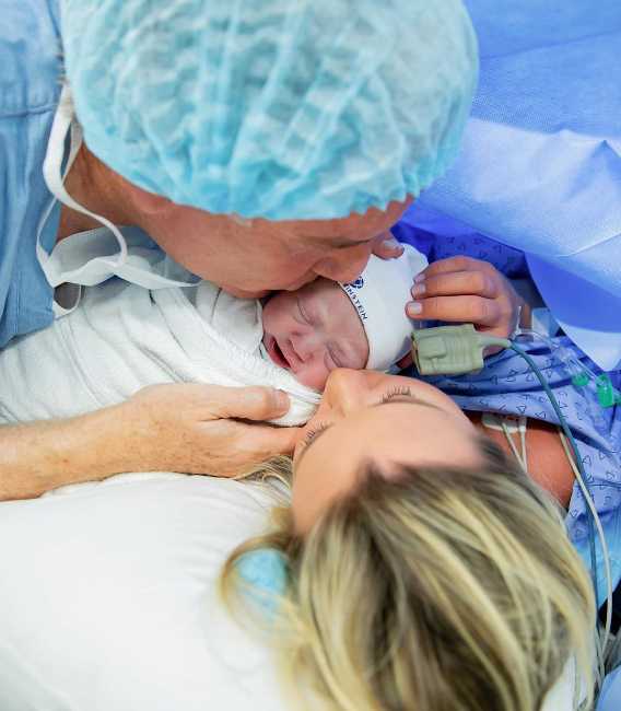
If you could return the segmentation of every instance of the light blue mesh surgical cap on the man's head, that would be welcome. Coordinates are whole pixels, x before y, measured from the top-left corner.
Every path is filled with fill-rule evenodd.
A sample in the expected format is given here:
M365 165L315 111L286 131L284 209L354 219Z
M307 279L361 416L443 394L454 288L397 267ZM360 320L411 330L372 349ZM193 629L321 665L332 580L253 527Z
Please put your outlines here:
M477 78L460 0L62 0L90 150L179 205L384 209L455 158Z

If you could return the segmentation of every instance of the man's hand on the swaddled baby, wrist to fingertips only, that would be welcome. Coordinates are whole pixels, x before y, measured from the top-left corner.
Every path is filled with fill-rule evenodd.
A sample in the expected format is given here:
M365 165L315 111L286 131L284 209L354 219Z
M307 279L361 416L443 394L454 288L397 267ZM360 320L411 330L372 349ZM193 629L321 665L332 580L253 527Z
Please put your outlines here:
M289 410L289 397L268 387L151 385L121 407L137 471L235 476L293 452L297 428L263 424Z

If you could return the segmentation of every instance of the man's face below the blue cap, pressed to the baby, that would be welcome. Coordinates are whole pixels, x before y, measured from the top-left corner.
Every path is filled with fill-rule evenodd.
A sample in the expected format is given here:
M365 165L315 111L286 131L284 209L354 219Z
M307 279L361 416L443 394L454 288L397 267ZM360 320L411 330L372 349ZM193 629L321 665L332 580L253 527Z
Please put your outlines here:
M412 199L340 220L242 221L167 202L141 225L173 258L230 293L256 298L316 277L348 282Z

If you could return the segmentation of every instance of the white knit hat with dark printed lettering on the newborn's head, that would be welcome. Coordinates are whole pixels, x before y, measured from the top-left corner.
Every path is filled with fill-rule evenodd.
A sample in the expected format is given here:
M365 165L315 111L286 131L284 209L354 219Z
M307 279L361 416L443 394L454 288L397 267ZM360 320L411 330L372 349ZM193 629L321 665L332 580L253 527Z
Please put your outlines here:
M368 339L366 368L387 371L409 351L410 334L415 328L406 315L411 301L414 277L426 266L426 257L403 245L398 259L380 259L372 255L366 269L341 289L350 298Z

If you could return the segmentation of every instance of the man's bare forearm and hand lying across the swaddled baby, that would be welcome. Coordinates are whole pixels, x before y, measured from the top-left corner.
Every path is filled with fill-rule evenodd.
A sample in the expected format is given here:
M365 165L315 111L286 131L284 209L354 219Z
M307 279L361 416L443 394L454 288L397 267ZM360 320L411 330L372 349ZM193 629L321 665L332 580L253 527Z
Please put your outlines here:
M125 471L241 474L293 452L297 428L258 423L288 410L288 396L267 387L153 385L68 420L3 426L0 501Z

